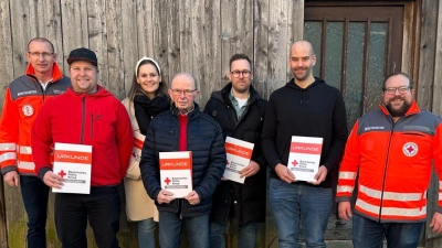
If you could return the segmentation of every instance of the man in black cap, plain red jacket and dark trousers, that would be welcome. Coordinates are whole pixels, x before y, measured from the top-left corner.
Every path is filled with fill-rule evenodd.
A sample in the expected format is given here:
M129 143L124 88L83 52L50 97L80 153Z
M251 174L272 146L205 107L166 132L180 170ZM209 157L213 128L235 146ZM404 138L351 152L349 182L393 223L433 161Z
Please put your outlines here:
M87 48L70 53L72 87L48 100L32 128L35 172L53 188L62 188L52 172L52 143L92 145L91 193L55 195L55 226L63 248L87 247L87 220L98 247L118 247L120 200L118 185L129 164L134 144L126 109L104 87L97 85L97 58Z

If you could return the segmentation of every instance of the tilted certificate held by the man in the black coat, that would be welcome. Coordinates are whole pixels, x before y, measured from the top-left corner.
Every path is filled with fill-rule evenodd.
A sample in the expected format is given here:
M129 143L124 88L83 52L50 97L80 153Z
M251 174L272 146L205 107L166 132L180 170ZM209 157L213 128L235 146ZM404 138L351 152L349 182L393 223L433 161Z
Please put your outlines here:
M244 183L245 177L240 177L240 171L249 165L252 158L254 143L231 137L225 138L225 155L228 159L224 177L238 183Z

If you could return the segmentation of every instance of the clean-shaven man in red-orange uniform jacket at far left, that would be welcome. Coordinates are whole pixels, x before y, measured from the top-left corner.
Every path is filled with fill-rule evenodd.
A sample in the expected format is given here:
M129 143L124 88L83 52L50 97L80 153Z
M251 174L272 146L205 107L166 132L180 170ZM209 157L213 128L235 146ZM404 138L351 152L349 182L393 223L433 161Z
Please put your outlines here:
M8 185L19 186L20 182L29 218L28 247L45 248L49 187L35 176L31 128L45 100L63 94L71 83L60 71L54 45L49 40L32 39L27 58L27 72L9 84L4 95L0 117L0 165Z

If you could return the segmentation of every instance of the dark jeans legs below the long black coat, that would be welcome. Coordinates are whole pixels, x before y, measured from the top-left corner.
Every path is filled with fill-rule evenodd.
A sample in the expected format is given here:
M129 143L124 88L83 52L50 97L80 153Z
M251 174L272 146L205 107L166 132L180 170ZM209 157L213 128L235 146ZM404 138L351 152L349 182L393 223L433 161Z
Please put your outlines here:
M225 248L227 224L210 222L210 247ZM239 226L238 247L253 248L256 240L256 224L249 223Z

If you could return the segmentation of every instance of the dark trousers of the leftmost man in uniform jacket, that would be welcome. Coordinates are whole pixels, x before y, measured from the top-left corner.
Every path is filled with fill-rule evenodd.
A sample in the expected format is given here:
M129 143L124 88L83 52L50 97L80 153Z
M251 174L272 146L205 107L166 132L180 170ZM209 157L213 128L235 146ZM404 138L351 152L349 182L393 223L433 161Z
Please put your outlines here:
M49 186L36 176L20 175L20 187L29 219L28 247L45 248Z

